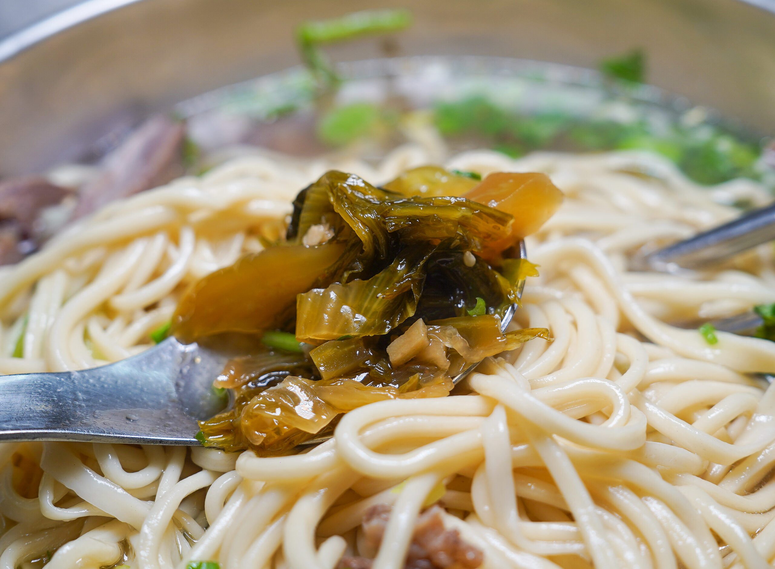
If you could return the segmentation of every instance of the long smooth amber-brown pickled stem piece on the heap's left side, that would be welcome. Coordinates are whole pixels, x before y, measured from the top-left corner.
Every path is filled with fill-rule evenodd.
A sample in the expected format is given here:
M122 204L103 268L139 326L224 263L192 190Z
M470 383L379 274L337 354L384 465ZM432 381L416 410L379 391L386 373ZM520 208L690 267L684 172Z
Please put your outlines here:
M296 295L319 286L344 249L340 243L290 245L245 255L191 286L172 317L173 334L189 342L219 332L283 327L293 317Z

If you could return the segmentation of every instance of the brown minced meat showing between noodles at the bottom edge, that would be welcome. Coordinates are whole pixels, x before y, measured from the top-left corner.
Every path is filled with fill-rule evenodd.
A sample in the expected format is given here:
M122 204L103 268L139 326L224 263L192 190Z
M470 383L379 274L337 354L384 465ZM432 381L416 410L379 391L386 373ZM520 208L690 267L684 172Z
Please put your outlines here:
M363 514L363 537L376 550L382 542L392 507L375 504ZM476 569L484 561L484 554L460 539L457 530L446 530L443 509L426 509L415 523L415 533L406 556L405 569ZM345 556L339 569L371 569L367 557Z

